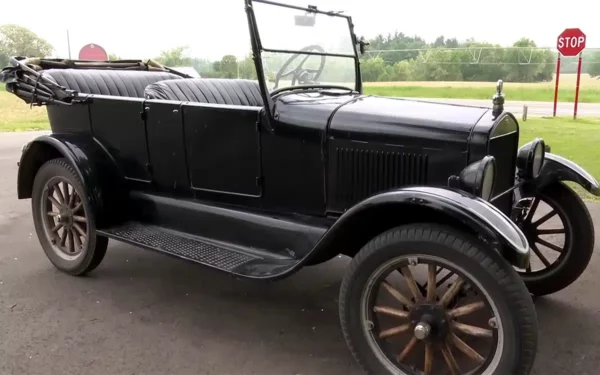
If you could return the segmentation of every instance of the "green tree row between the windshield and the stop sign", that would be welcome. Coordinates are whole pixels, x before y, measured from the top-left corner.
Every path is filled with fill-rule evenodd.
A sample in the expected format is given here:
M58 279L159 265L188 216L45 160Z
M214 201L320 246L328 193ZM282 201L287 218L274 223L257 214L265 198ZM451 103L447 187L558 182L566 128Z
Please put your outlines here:
M363 80L383 81L496 81L540 82L552 80L554 55L535 49L522 38L513 47L476 42L459 43L455 38L438 37L428 44L419 37L402 33L381 35L369 41L371 50L398 50L363 57ZM420 50L420 51L419 51ZM508 63L507 63L508 62Z

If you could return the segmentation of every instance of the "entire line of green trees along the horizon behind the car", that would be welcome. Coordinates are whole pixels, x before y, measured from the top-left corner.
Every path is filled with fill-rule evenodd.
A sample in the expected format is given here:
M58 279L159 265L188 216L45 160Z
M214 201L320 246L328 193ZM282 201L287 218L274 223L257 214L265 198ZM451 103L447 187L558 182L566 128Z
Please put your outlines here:
M400 32L378 35L369 40L368 51L361 57L362 78L377 81L496 81L542 82L552 80L556 69L556 53L550 49L537 48L531 39L522 38L512 47L478 42L469 39L459 42L456 38L438 37L433 43L418 36ZM8 65L9 56L50 56L53 47L31 30L18 25L0 25L0 66ZM286 56L287 57L287 56ZM273 57L282 59L286 57ZM111 60L119 59L110 55ZM171 67L192 66L207 78L255 79L256 72L251 55L238 58L225 55L220 60L193 58L185 46L162 51L154 58ZM574 73L576 57L563 57L563 73ZM600 78L600 52L585 53L583 71ZM326 64L327 76L332 81L344 81L352 77L350 69L341 69L343 59L330 58ZM280 66L274 61L273 66ZM270 77L274 75L269 73ZM325 75L325 72L324 72Z

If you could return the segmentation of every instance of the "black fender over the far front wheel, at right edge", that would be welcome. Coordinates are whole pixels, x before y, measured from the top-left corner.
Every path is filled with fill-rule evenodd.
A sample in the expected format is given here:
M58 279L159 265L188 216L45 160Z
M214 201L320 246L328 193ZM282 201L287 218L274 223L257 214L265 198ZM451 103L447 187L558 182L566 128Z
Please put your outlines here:
M543 189L557 181L576 182L591 194L600 196L600 185L594 176L571 160L547 152L536 188Z

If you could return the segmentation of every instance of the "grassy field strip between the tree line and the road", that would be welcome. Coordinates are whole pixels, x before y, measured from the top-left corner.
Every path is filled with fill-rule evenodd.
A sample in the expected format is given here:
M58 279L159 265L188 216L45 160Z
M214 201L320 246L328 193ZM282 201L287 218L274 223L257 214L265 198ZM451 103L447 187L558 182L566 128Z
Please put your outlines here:
M449 99L490 99L494 94L489 87L456 87L456 86L371 86L365 85L365 94L382 96L399 96L413 98L449 98ZM553 101L554 89L551 87L510 87L504 89L507 100ZM561 88L558 100L561 102L574 102L575 89ZM600 103L600 89L580 89L579 101L581 103Z

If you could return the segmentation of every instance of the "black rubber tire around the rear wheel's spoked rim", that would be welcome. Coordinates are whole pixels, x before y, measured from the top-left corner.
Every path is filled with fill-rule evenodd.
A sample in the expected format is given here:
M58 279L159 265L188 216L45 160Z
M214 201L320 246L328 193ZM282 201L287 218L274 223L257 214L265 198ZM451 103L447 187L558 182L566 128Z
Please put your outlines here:
M66 259L60 255L56 241L53 243L50 238L52 234L50 234L51 231L48 231L49 225L45 221L47 212L44 202L47 198L44 197L44 193L47 194L49 184L58 180L66 181L75 190L78 202L81 202L83 206L79 210L83 209L83 217L87 219L84 228L85 237L81 242L82 245L79 246L81 250L78 250L77 256L74 256L73 259ZM84 192L85 189L79 176L63 158L52 159L42 165L33 182L31 205L38 240L50 262L59 270L73 276L85 275L98 267L104 259L108 246L108 238L96 234L93 210ZM69 241L72 236L68 236ZM81 241L81 237L78 238Z

